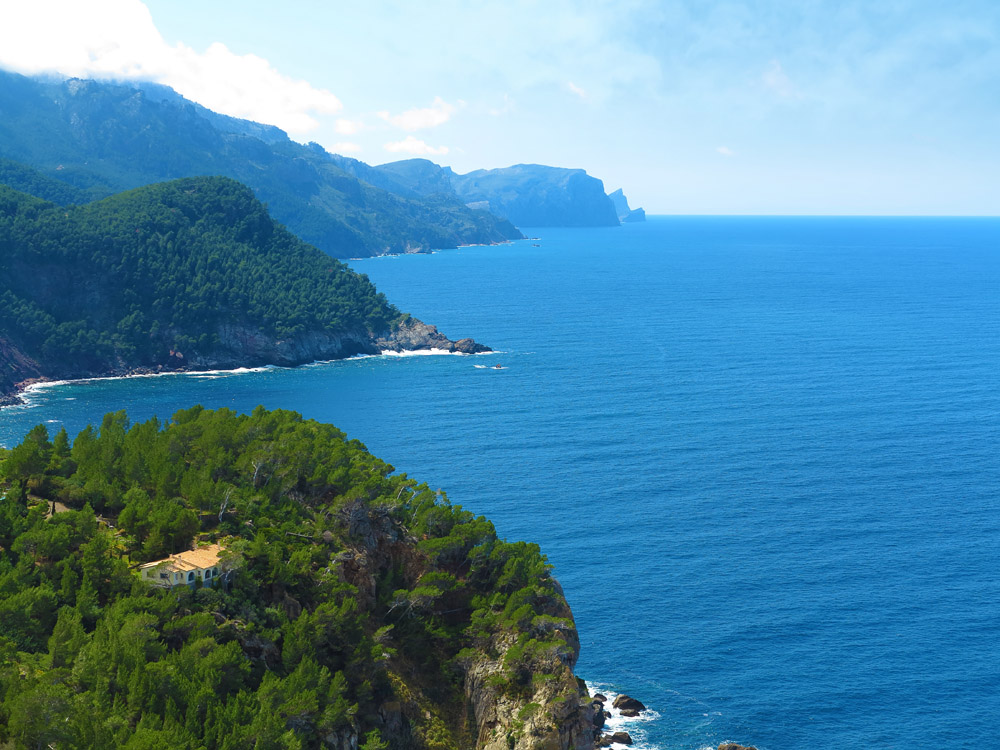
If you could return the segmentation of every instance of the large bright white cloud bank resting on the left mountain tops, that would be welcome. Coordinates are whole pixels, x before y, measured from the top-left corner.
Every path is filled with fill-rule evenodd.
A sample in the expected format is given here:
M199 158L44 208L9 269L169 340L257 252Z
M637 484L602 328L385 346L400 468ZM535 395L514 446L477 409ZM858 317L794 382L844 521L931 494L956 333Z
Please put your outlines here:
M204 52L166 43L139 0L4 3L0 67L21 73L138 79L170 86L209 109L307 133L340 100L216 42Z

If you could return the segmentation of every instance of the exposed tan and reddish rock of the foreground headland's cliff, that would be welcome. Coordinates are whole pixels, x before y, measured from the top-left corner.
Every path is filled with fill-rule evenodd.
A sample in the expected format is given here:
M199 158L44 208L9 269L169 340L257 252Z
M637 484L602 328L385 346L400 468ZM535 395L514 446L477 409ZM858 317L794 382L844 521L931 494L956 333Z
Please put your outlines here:
M345 517L353 543L338 555L337 564L363 607L376 606L379 582L389 571L410 582L426 572L416 540L387 512L356 504ZM422 683L406 658L393 660L390 670L399 700L380 708L392 728L387 739L396 743L393 747L428 747L427 737L436 734L442 748L593 750L594 708L573 675L580 641L562 589L553 583L555 596L544 606L543 617L560 625L540 625L539 632L527 634L497 633L474 654L459 658L461 695L437 692ZM526 674L512 678L511 657L519 654L526 636L546 636L558 645L534 653L530 663L522 662ZM334 747L354 750L349 738L338 739Z

